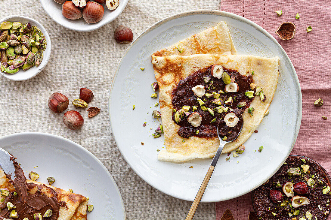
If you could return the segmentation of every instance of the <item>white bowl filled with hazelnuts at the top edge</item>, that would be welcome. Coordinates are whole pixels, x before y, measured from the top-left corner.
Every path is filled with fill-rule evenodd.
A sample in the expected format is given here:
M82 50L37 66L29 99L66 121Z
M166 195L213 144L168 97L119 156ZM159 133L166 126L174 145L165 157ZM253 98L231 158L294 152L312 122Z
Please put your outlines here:
M89 32L113 21L128 0L40 0L46 13L58 24Z

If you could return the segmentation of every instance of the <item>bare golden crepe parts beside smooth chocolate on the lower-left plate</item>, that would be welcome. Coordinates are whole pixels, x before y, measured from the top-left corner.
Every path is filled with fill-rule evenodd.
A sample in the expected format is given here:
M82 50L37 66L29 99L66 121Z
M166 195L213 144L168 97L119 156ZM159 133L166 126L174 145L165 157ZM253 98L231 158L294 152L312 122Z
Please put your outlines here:
M66 202L66 206L60 206L59 210L59 218L57 220L87 220L87 198L71 193L69 191L53 187L51 185L43 184L40 182L26 180L27 183L34 183L36 185L42 186L41 192L46 194L48 197L52 197L53 194L49 191L49 188L52 188L57 193L58 201ZM2 169L0 169L0 187L7 188L10 192L15 191L13 185L7 179L5 173ZM49 188L48 188L49 187ZM34 190L29 191L29 193L35 193L36 188ZM5 199L6 197L1 196L1 199Z

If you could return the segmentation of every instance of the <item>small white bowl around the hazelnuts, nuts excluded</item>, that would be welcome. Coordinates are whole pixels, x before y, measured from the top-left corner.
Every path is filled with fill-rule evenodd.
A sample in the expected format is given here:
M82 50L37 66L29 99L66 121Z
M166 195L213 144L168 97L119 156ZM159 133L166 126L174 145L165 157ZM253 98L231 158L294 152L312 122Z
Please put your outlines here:
M93 0L91 0L93 1ZM119 0L118 7L111 11L106 7L106 4L103 3L105 13L103 18L93 24L88 24L83 18L79 18L77 20L70 20L68 18L65 18L62 15L62 5L59 3L56 3L54 0L40 0L41 6L44 8L46 13L58 24L74 30L74 31L80 31L80 32L90 32L94 31L96 29L99 29L100 27L108 24L109 22L115 20L122 11L124 10L128 0Z

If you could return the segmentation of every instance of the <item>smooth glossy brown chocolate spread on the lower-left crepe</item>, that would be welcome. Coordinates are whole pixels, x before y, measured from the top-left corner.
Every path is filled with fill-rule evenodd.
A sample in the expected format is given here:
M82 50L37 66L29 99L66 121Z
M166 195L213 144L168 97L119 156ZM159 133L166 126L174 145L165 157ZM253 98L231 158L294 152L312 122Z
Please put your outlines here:
M40 192L43 188L41 185L26 183L23 169L15 161L16 158L12 156L10 159L13 161L15 166L16 178L12 180L11 174L6 174L6 176L10 183L15 187L17 195L14 195L15 192L11 192L5 201L0 205L0 219L8 218L11 210L13 210L8 210L7 202L14 204L15 210L18 212L20 219L27 217L32 220L34 219L34 213L40 212L43 215L48 209L52 210L52 216L47 219L58 219L60 206L66 206L66 202L59 202L57 199L57 193L50 187L43 185L48 188L50 193L53 195L52 197L48 197L46 194ZM32 191L33 189L37 189L34 194L28 193L28 191Z

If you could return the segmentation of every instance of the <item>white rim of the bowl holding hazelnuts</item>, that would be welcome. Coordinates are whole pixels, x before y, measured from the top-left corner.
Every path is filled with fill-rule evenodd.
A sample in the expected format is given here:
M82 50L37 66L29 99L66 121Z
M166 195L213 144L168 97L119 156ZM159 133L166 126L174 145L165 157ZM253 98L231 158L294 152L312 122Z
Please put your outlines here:
M74 26L70 26L70 25L66 25L65 23L61 23L60 21L54 19L54 18L50 15L50 13L48 13L48 10L46 10L46 8L47 8L47 4L45 3L45 0L40 0L40 3L41 3L41 6L43 7L43 9L45 10L45 12L47 13L47 15L48 15L50 18L52 18L52 20L54 20L56 23L60 24L61 26L65 27L65 28L67 28L67 29L69 29L69 30L73 30L73 31L79 31L79 32L91 32L91 31L97 30L97 29L99 29L99 28L105 26L106 24L112 22L113 20L115 20L120 14L122 14L122 12L124 11L124 9L125 9L125 7L126 7L128 1L129 1L129 0L121 0L121 2L123 2L123 3L122 3L122 8L118 9L118 12L116 12L116 10L115 10L115 11L112 11L112 12L116 12L116 13L118 13L118 14L115 15L113 18L110 18L109 20L104 20L104 21L101 21L101 20L100 20L99 22L96 23L96 24L98 24L98 25L93 25L93 24L90 25L90 24L86 23L86 26L84 26L84 27L86 27L86 28L84 28L84 29L81 29L81 28L78 28L78 27L76 28L76 27L74 27ZM56 3L56 4L58 4L58 3ZM120 4L121 4L121 3L120 3ZM107 8L107 7L106 7L106 8ZM107 9L107 10L108 10L108 9ZM61 12L61 13L62 13L62 12Z

